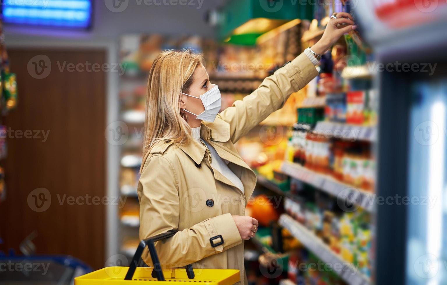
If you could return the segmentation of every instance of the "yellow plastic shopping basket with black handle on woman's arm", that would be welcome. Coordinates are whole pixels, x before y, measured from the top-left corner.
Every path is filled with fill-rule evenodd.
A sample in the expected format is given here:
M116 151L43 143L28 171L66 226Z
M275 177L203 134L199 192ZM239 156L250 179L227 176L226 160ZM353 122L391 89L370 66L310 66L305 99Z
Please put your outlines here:
M229 285L240 281L239 270L236 269L193 269L191 264L186 268L162 269L154 243L167 239L176 232L143 239L135 251L129 267L111 266L90 272L75 278L75 285L137 285L137 284L172 284L184 282L189 284L221 284ZM154 268L137 267L141 262L144 248L148 246ZM169 276L165 277L164 276Z

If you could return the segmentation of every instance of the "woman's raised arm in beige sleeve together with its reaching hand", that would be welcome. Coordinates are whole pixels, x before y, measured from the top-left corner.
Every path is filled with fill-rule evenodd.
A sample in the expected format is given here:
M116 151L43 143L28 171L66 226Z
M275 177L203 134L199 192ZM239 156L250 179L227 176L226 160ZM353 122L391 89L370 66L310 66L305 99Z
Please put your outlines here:
M345 33L356 29L352 16L340 12L331 17L321 39L311 47L316 54L324 54ZM283 107L291 93L303 88L318 72L309 57L302 53L291 63L267 77L253 93L219 114L230 124L230 139L235 143L268 115Z

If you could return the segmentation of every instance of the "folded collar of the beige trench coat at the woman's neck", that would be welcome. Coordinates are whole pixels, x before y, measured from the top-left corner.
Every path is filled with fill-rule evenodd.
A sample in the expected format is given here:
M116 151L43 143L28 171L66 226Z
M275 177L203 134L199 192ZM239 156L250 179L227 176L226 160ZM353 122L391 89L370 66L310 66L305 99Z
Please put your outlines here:
M200 128L200 137L207 141L227 142L230 139L230 124L216 117L214 122L202 122ZM190 144L176 144L184 151L195 163L200 164L205 156L207 148L201 143L192 141Z

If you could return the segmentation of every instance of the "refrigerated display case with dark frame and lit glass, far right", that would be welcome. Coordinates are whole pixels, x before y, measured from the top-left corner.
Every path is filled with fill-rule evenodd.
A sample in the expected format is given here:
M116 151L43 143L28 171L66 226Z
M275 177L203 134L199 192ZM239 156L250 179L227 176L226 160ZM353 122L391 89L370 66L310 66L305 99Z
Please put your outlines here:
M447 5L358 1L357 8L374 64L388 67L375 71L377 198L389 199L376 200L376 283L445 284Z

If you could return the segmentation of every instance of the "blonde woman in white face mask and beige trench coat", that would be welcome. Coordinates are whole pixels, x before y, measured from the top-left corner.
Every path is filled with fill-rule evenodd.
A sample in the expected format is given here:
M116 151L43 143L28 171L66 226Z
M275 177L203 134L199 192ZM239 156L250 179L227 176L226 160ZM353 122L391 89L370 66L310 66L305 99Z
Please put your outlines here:
M234 143L308 84L318 74L316 54L355 28L350 14L338 13L310 50L219 114L220 92L200 55L157 56L148 79L138 197L140 239L177 231L156 243L162 267L239 269L247 284L244 240L256 235L258 222L245 216L245 206L256 175ZM148 251L143 259L152 266Z

